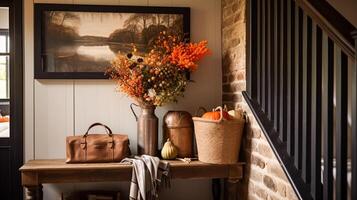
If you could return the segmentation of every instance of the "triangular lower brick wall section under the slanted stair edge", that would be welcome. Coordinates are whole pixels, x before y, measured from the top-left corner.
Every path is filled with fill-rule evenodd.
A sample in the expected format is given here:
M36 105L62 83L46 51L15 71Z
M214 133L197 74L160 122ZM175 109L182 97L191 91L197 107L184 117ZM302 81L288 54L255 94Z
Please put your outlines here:
M249 106L244 99L239 105L247 112L241 152L241 160L247 164L239 199L298 199Z

